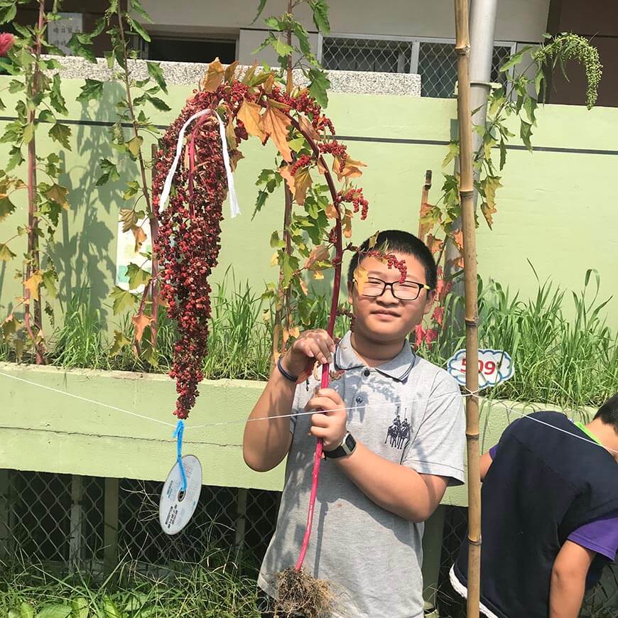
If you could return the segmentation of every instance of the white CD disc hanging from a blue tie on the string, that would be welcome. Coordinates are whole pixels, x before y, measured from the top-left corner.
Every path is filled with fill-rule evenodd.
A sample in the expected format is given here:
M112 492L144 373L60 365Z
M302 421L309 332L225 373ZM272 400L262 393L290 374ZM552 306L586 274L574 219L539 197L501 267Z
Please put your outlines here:
M183 477L178 462L163 483L159 500L159 523L166 534L178 534L195 513L202 489L202 465L195 455L185 455L183 466L187 490L183 492Z

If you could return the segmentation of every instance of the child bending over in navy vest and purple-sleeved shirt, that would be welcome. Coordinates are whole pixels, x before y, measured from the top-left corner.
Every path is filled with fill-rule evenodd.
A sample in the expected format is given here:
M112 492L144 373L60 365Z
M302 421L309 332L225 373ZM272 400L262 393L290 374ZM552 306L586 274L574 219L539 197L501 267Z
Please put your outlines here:
M583 425L519 418L482 455L481 613L578 618L618 551L618 394ZM467 596L467 544L450 572Z

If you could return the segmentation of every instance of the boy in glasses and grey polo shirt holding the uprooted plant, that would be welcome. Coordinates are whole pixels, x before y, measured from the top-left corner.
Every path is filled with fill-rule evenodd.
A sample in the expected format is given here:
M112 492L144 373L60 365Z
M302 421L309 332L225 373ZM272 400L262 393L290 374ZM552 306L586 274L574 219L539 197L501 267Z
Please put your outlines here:
M464 417L455 380L418 357L407 339L433 305L433 256L398 230L381 232L376 245L406 261L406 281L363 256L364 242L348 271L354 332L337 345L325 330L303 332L249 416L271 420L244 430L244 460L253 470L271 470L288 456L276 532L258 580L266 605L276 597L274 574L296 562L315 438L322 438L326 462L305 568L330 582L337 598L330 615L423 616L423 522L448 485L463 482ZM361 290L357 266L367 271ZM306 386L298 379L315 361L342 372L332 388L319 389L313 376ZM299 414L305 411L315 413ZM263 615L272 616L269 607Z

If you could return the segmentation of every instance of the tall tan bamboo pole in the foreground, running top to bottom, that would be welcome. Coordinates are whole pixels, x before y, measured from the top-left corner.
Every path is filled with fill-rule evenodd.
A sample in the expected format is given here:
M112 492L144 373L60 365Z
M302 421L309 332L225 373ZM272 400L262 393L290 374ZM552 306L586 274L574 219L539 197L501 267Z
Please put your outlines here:
M468 578L467 618L479 617L481 573L481 480L479 473L479 387L477 359L477 246L472 171L472 118L470 116L470 33L467 0L455 0L455 53L457 54L457 120L460 140L460 200L463 223L466 327L466 443L468 462Z

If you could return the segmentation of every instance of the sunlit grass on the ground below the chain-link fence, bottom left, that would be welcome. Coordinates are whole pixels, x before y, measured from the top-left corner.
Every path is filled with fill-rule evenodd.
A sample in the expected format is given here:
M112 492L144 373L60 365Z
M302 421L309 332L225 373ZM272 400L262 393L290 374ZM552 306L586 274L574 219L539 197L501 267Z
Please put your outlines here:
M212 558L212 556L211 556ZM259 618L255 576L231 563L183 564L165 578L119 566L98 582L58 577L41 565L0 576L0 616L8 618Z

